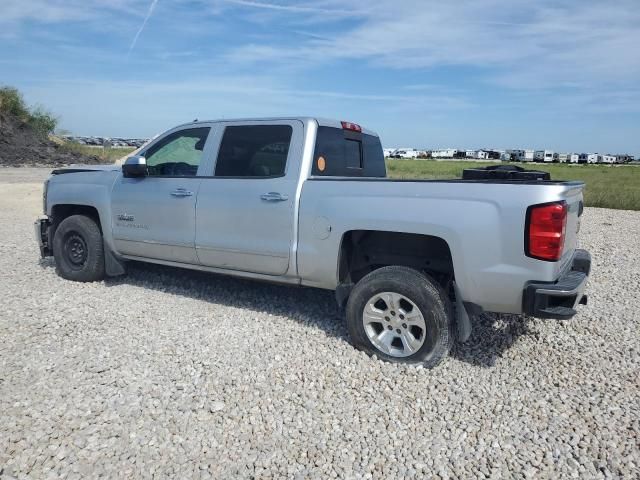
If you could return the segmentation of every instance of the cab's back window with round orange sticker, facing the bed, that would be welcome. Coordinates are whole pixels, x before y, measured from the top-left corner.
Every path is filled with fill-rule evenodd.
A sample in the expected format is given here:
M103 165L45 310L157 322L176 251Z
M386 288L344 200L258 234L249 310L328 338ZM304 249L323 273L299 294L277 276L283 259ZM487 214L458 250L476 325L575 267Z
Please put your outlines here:
M351 130L318 127L312 174L332 177L385 177L380 139Z

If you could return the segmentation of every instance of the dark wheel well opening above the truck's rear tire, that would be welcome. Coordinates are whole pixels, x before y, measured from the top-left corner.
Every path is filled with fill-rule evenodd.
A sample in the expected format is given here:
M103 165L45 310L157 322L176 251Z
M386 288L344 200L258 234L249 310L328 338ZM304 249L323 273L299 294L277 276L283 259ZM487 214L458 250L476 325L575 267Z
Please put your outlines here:
M345 233L338 266L340 284L355 284L369 272L388 265L426 272L445 289L454 278L451 249L440 237L375 230Z

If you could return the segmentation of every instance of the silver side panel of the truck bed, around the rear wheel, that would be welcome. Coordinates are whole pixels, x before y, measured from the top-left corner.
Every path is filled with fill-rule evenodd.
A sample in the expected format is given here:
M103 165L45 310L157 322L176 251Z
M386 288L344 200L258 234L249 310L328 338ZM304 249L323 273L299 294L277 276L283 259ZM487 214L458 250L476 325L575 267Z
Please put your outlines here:
M444 239L464 301L495 312L519 313L527 282L553 281L576 248L582 182L309 178L299 213L298 273L303 283L335 288L340 242L351 230L404 231ZM559 262L524 252L531 205L566 201L570 208ZM319 224L331 236L319 239ZM333 284L332 284L333 283Z

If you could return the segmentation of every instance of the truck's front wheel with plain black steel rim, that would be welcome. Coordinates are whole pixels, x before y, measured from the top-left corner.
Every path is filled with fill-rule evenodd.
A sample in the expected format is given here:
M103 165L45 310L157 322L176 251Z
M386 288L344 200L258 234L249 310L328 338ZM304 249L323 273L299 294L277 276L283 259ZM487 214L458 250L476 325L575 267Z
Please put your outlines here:
M95 282L104 278L104 246L100 228L91 218L65 218L53 237L56 272L75 282Z

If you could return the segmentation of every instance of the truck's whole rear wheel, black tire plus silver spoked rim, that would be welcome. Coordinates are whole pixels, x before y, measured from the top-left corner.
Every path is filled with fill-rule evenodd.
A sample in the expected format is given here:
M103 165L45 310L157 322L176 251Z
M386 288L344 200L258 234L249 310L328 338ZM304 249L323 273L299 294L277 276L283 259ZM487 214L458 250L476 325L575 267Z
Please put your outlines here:
M346 313L356 345L383 360L432 368L453 344L449 298L412 268L383 267L365 276L351 292Z

